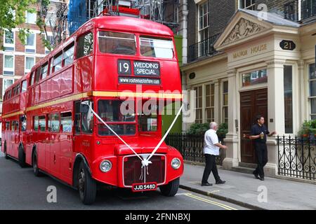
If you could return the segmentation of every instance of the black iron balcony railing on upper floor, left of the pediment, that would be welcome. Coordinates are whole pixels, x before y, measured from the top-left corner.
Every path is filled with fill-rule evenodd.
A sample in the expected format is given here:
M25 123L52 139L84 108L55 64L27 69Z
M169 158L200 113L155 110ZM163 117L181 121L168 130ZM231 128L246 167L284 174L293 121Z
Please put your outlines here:
M189 46L188 62L193 62L199 57L214 55L217 51L214 49L214 44L220 34L211 36L204 41L192 44Z

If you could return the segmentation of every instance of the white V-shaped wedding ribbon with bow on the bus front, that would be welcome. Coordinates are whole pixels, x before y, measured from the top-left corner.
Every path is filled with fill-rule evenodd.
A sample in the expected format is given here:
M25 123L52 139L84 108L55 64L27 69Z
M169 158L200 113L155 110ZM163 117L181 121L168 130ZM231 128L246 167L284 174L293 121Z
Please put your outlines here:
M119 140L121 140L129 149L131 149L131 151L142 161L142 172L140 175L140 179L143 179L144 177L144 182L146 182L146 175L144 174L143 176L143 172L146 173L146 169L147 169L147 175L148 175L148 165L150 165L152 162L150 161L150 158L152 158L152 156L154 155L154 153L156 153L156 151L158 150L158 148L162 145L162 143L164 142L164 139L166 139L166 137L168 136L169 132L171 131L171 128L173 127L174 123L176 123L176 120L178 119L178 116L180 116L180 113L183 109L183 104L180 106L180 109L178 111L178 113L176 114L176 117L173 119L169 129L166 131L166 133L164 134L164 137L162 137L162 139L159 141L159 144L157 144L157 146L154 148L154 150L152 151L152 153L150 153L150 155L147 158L141 158L140 155L138 155L138 153L136 153L136 151L133 150L133 148L131 148L131 146L129 146L129 144L126 143L126 141L124 141L119 134L117 134L117 132L114 132L114 130L112 130L112 128L107 125L107 123L105 123L105 121L100 118L100 116L98 116L98 113L96 113L95 111L93 111L92 107L90 106L90 104L88 103L88 101L84 101L81 102L81 104L87 105L92 113L94 114L94 116L96 116L96 118L98 118L98 120L100 120L111 132L113 132L113 134L119 138ZM143 171L143 169L145 169Z

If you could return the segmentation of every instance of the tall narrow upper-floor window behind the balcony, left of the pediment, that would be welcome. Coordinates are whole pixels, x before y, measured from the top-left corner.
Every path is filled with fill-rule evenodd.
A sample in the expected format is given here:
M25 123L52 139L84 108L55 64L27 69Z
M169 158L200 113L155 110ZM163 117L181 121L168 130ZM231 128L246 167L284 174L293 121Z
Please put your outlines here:
M209 38L209 1L199 5L199 41Z

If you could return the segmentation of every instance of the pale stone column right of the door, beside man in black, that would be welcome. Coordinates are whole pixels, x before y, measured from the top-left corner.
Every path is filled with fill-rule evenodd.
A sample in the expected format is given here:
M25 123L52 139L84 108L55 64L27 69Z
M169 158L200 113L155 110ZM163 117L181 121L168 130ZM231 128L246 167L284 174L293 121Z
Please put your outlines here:
M267 63L268 72L268 124L269 131L276 131L282 136L285 133L284 122L284 60L272 59ZM269 137L268 146L268 164L265 166L266 176L277 174L278 151L275 137Z

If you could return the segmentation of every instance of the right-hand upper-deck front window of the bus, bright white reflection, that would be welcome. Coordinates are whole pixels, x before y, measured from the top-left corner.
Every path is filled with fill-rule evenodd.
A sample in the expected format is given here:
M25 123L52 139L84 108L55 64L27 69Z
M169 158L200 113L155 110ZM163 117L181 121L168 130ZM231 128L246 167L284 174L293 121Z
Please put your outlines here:
M171 39L140 37L140 54L147 57L173 58Z

